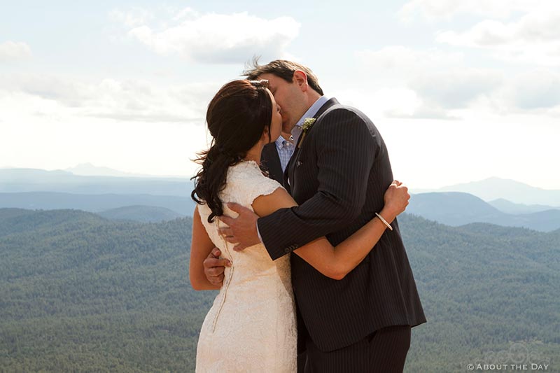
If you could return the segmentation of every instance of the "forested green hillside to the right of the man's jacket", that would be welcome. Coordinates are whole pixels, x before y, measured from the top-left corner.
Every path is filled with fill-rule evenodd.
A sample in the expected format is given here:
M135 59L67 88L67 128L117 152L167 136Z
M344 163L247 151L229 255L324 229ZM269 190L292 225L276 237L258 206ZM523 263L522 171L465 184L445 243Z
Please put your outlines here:
M560 230L399 221L428 318L413 331L407 372L560 356Z

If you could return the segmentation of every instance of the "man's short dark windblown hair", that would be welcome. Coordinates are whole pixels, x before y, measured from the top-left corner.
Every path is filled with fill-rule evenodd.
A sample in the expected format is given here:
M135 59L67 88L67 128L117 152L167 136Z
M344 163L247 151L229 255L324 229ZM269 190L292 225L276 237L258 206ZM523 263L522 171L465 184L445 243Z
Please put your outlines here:
M301 70L307 75L307 84L313 88L315 92L323 96L323 89L319 85L317 76L307 66L298 64L297 62L287 61L286 59L274 59L265 65L258 64L258 58L254 58L250 64L247 64L245 71L241 74L246 76L248 80L258 80L258 76L263 73L272 73L288 83L293 82L293 73Z

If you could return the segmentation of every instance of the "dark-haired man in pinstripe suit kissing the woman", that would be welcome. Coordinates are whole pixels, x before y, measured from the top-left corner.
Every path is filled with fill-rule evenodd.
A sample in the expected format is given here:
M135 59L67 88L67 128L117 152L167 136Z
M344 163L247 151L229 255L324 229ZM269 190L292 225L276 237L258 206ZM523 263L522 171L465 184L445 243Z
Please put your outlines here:
M239 217L221 218L230 227L223 234L237 243L236 250L262 241L273 260L322 236L339 244L383 207L393 173L381 135L363 113L323 96L305 66L285 60L255 63L246 76L269 81L283 132L293 135L295 153L284 186L300 206L258 218L231 204ZM306 118L315 121L302 128ZM291 255L305 372L402 372L410 328L426 318L397 220L392 227L339 281ZM211 256L204 262L210 281L219 283L219 263Z

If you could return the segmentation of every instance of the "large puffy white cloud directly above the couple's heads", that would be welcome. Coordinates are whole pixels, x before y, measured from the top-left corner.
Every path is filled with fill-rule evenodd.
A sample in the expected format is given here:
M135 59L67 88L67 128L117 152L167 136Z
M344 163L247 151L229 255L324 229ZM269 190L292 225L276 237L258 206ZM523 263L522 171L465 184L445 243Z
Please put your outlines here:
M170 15L160 26L127 14L116 18L125 24L133 20L128 24L135 27L128 34L154 52L202 63L242 63L253 55L286 57L300 29L292 17L267 20L246 12L200 14L191 8Z

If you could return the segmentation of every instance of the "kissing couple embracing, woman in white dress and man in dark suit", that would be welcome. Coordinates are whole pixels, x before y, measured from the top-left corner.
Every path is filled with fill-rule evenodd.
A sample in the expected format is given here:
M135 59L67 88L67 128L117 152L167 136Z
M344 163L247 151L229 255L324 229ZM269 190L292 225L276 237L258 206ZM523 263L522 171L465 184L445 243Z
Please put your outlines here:
M197 160L190 282L220 290L197 372L402 372L426 318L379 131L306 66L244 75L211 100Z

